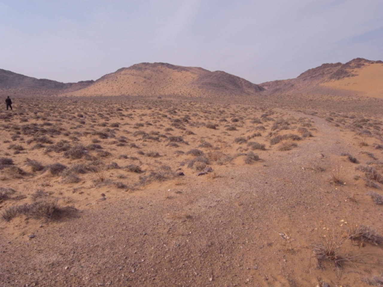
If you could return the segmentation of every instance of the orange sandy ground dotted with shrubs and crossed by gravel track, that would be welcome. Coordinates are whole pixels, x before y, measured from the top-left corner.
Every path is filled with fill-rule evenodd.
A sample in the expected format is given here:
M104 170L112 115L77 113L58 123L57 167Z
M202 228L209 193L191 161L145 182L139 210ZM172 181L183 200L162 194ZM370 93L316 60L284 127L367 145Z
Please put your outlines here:
M381 118L272 105L2 111L0 285L380 286Z

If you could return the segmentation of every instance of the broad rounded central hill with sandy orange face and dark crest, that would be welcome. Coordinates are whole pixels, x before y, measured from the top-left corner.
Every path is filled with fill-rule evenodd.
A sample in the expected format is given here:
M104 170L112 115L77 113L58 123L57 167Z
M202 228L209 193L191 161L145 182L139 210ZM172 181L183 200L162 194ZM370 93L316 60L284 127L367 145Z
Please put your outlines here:
M211 98L255 95L264 88L223 71L167 63L141 63L107 74L69 96L181 96Z

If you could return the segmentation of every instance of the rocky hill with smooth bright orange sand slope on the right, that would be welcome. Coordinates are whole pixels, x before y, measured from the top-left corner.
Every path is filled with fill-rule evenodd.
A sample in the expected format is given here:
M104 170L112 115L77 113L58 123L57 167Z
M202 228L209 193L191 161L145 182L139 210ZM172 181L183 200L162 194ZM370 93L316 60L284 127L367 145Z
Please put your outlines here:
M320 90L355 91L360 95L383 97L383 62L363 58L345 64L322 64L298 77L261 83L269 94L318 92Z

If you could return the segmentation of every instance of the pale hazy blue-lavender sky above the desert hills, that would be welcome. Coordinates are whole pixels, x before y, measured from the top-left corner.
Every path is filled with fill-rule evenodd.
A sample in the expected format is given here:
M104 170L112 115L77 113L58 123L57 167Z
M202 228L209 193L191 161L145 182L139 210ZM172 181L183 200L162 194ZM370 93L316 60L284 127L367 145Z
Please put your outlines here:
M0 68L77 82L168 62L261 83L383 60L382 11L383 0L3 0Z

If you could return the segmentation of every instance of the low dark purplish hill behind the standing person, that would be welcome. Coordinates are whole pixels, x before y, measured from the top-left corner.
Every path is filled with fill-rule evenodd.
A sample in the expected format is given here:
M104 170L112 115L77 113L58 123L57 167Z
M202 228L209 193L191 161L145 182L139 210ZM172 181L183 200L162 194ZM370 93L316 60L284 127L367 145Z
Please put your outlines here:
M50 95L58 91L75 91L93 83L80 81L77 83L62 83L48 79L28 77L8 70L0 69L0 91L8 95Z

